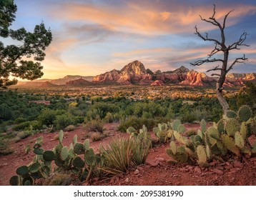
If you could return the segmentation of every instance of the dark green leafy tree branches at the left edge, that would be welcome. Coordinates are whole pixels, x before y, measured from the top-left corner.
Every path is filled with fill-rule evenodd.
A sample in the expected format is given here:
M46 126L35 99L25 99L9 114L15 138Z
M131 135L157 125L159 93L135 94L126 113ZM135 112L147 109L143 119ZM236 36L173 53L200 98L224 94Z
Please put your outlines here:
M43 76L40 61L44 60L44 50L52 40L51 31L46 30L43 22L36 25L33 32L26 31L23 27L17 30L9 29L15 19L16 10L17 6L13 0L0 1L0 36L19 43L4 46L0 41L0 88L17 83L17 80L11 80L10 76L28 80Z

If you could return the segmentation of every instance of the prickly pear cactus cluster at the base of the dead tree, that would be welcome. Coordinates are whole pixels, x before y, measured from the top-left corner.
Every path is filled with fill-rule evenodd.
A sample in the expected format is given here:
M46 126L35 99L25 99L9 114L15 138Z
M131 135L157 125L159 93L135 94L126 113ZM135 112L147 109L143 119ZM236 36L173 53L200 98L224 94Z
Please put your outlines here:
M217 124L208 129L205 120L202 120L197 135L189 138L178 133L180 124L176 121L173 124L174 139L179 141L180 145L176 146L175 142L171 141L167 154L174 160L172 163L197 161L204 167L209 166L208 161L212 159L225 161L229 153L251 156L256 153L256 143L252 146L247 139L248 136L256 134L256 122L251 116L250 108L242 106L238 113L228 111Z

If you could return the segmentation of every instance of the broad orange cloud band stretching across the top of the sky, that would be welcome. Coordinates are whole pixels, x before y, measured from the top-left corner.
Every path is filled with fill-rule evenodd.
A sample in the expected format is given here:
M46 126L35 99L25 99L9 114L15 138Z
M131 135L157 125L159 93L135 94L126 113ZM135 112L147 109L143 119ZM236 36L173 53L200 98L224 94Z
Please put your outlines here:
M114 6L93 6L91 4L58 4L58 9L51 11L51 15L56 18L87 21L89 23L102 24L108 29L114 31L126 31L139 34L169 34L187 31L187 27L200 24L201 15L203 18L209 18L212 15L212 7L197 6L185 7L184 9L165 8L159 9L155 4L147 4L146 7L140 6L139 3L127 3L126 7ZM180 7L181 5L177 5ZM229 16L228 24L237 23L238 17L246 14L253 14L256 6L234 5L234 11ZM223 18L228 11L228 7L216 9L216 19ZM209 29L211 26L203 26ZM212 29L211 27L210 29ZM190 29L190 28L189 28Z

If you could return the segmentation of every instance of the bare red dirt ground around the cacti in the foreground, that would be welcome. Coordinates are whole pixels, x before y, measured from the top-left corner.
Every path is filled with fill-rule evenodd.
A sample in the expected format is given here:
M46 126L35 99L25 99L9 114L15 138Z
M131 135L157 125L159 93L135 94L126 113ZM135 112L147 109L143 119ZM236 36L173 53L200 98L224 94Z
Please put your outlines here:
M105 124L105 131L109 134L102 141L91 141L90 146L97 150L100 144L108 144L114 136L128 136L117 131L118 124ZM197 124L186 124L186 129L198 129ZM14 149L13 154L0 156L0 185L9 185L9 179L16 174L16 168L29 164L34 154L25 154L24 146L34 145L36 138L44 137L43 148L52 149L58 140L54 140L55 133L35 134L17 143L11 143ZM69 146L74 135L77 134L78 140L84 140L86 131L80 126L74 131L64 134L63 143ZM245 159L242 161L230 160L225 163L213 161L210 168L204 169L200 166L190 166L188 164L169 164L169 156L165 149L169 143L162 146L155 146L150 150L146 164L137 166L137 169L130 169L126 174L119 174L108 179L94 179L84 185L256 185L256 158Z

